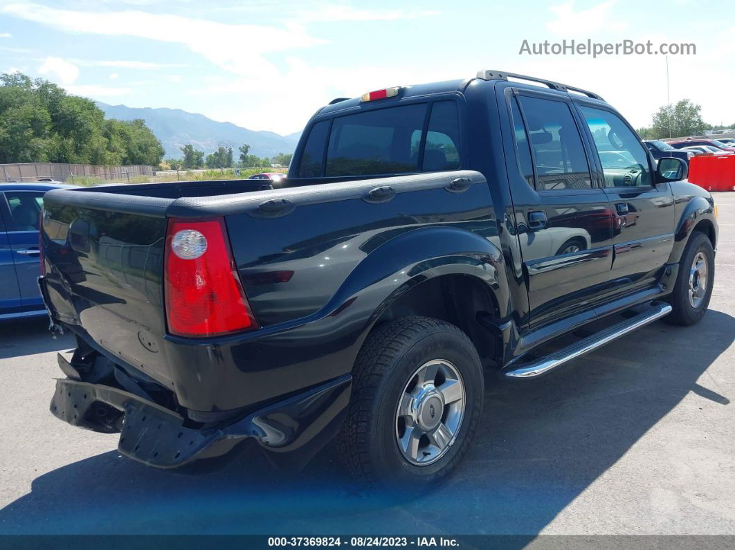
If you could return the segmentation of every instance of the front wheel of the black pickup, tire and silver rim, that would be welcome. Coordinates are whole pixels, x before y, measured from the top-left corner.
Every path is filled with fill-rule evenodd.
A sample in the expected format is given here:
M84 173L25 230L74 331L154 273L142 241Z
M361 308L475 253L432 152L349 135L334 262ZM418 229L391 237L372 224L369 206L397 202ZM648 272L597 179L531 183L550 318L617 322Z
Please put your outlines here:
M696 269L697 266L699 269ZM702 275L702 267L706 269ZM698 271L698 275L694 272ZM702 282L706 285L703 289ZM694 293L694 299L690 299L689 292L692 290L690 284L700 290L700 296ZM695 231L689 236L689 242L684 247L679 261L679 270L676 275L673 292L668 297L673 311L664 317L664 321L670 325L689 326L698 322L706 314L709 299L712 295L714 283L714 250L709 238Z

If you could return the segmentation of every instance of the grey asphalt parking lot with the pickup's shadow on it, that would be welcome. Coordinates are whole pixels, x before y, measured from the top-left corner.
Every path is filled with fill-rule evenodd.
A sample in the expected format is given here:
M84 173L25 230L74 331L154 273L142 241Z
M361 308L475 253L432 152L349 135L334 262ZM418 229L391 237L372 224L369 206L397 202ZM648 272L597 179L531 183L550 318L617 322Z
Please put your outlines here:
M44 319L0 325L0 533L735 534L735 193L699 325L656 322L537 381L487 391L476 444L419 499L352 488L334 449L276 471L257 446L216 471L126 460L117 435L48 411Z

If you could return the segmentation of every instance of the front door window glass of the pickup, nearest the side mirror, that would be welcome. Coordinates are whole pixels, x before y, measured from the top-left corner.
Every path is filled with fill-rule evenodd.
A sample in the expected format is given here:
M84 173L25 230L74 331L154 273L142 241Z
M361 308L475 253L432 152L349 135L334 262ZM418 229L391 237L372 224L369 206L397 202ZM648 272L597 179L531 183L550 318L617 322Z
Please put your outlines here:
M581 107L595 140L606 187L647 187L651 184L648 154L636 135L617 115Z

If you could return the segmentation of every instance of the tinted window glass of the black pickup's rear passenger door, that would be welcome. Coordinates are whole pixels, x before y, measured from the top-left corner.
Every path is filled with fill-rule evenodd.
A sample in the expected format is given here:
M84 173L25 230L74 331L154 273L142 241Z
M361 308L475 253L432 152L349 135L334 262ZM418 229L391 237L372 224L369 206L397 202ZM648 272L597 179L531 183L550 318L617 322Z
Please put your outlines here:
M590 189L589 164L574 117L562 101L520 96L539 190Z

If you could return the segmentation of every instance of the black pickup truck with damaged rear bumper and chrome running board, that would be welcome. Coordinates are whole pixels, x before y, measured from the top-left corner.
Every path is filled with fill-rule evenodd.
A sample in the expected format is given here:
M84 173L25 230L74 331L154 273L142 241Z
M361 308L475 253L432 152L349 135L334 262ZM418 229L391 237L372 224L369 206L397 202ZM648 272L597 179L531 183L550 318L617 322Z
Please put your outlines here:
M245 438L295 467L336 437L358 477L430 487L487 372L708 307L711 195L595 93L494 70L376 90L319 109L293 158L278 182L46 195L40 286L77 342L55 416L160 468Z

